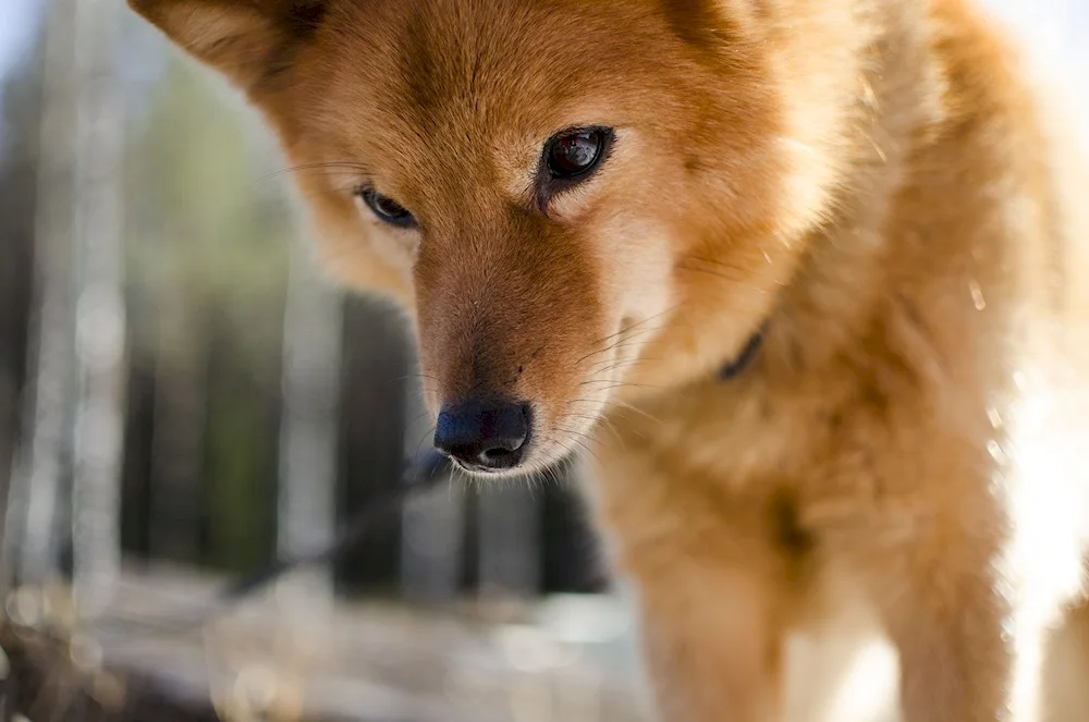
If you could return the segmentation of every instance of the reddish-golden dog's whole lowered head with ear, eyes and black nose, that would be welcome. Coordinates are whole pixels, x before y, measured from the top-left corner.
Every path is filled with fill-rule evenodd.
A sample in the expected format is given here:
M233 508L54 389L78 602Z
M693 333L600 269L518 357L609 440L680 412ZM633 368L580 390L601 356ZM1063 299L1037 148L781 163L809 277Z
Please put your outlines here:
M474 470L745 344L835 183L815 99L857 75L857 0L131 2L264 111L330 268L413 310Z

